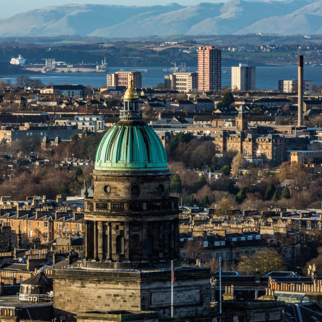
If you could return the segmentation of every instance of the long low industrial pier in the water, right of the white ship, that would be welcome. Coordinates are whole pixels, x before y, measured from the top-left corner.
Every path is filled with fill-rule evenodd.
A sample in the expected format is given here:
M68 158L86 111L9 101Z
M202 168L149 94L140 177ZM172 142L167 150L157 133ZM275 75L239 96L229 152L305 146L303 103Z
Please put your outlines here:
M22 67L25 70L41 72L107 72L106 58L101 64L66 63L65 61L55 61L54 58L45 59L45 64L26 64Z

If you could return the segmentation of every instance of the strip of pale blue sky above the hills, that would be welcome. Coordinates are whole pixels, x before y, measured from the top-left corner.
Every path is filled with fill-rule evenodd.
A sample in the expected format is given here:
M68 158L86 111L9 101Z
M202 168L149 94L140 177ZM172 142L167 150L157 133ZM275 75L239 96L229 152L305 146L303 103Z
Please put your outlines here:
M227 0L177 0L177 1L169 1L169 0L15 0L14 2L10 2L8 0L0 0L1 11L0 18L7 18L25 11L40 9L48 6L60 6L66 4L96 4L96 5L137 5L137 6L151 6L151 5L166 5L168 3L176 2L180 5L196 5L200 2L225 2Z

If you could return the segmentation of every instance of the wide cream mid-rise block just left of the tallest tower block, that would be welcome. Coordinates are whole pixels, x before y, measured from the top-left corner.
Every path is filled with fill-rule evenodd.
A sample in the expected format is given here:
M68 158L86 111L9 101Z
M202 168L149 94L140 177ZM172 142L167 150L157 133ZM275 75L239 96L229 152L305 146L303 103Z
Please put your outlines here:
M174 72L165 75L165 87L168 90L189 92L198 89L198 73L196 72Z

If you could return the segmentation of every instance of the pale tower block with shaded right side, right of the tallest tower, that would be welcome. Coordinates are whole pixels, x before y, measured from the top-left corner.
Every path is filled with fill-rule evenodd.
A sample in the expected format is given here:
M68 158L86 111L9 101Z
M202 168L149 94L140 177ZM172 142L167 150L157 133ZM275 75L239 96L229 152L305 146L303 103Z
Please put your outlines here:
M248 64L231 67L231 89L239 91L255 91L256 68Z

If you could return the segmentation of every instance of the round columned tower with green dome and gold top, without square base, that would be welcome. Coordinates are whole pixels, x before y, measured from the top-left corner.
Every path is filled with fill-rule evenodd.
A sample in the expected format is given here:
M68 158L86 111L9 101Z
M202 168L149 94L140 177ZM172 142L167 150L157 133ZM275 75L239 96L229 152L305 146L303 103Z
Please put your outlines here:
M164 146L142 121L132 80L123 99L120 122L97 150L94 197L85 200L86 266L179 258L178 198L170 197Z

